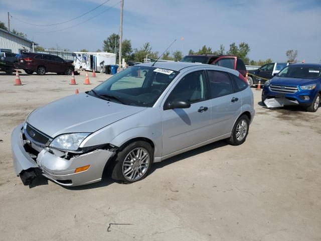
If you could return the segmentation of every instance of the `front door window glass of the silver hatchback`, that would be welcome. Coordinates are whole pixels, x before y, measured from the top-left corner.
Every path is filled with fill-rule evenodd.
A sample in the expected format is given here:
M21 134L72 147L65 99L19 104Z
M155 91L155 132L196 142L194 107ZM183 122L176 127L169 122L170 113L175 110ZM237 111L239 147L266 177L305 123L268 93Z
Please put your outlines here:
M185 75L175 86L166 102L188 100L191 103L206 98L205 76L203 70Z

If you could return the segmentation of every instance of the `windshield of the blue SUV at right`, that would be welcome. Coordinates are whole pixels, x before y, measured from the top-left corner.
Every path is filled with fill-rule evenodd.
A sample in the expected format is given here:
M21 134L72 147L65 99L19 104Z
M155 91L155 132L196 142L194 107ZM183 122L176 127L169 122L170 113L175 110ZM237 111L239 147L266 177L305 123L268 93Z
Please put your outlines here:
M287 66L278 73L278 77L316 79L320 76L321 67Z

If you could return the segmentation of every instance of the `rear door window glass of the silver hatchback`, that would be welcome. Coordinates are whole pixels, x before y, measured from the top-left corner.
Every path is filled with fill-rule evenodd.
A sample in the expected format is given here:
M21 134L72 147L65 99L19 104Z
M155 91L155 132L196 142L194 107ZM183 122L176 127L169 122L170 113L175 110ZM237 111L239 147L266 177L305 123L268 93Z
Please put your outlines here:
M228 73L223 71L208 70L212 98L233 93L232 81Z

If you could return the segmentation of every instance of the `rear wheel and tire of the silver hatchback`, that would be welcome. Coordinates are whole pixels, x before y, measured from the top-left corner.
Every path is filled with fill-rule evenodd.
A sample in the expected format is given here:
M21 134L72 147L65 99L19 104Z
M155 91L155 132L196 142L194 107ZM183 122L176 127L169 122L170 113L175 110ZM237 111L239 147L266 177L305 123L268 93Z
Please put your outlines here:
M246 125L246 130L242 127L239 127L239 125L243 126L243 124ZM227 142L232 145L232 146L238 146L241 145L245 142L247 134L249 133L249 127L250 127L250 120L247 117L247 115L243 114L241 115L237 121L235 122L235 125L233 127L232 130L232 135L230 138L226 139ZM241 130L239 130L238 128L241 128ZM239 131L238 131L239 130ZM241 132L241 138L237 137L237 135L239 134L239 132ZM243 136L244 135L244 136ZM242 137L243 136L243 137Z

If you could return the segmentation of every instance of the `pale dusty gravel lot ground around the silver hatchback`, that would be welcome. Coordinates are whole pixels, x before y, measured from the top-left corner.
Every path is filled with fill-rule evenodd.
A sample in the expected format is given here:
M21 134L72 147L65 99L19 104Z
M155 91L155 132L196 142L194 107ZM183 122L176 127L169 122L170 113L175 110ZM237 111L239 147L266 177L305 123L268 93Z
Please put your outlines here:
M89 73L91 76L91 73ZM70 76L0 73L0 240L321 240L321 109L266 109L246 142L224 141L153 166L130 185L66 188L15 176L11 132L34 108L89 90ZM110 223L118 223L111 224Z

